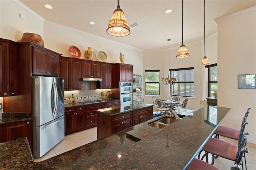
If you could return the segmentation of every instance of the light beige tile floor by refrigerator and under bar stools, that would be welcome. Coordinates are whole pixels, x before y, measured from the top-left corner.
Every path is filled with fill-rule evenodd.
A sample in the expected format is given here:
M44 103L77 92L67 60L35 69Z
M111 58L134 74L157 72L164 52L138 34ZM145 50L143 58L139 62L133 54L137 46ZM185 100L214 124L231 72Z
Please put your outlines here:
M220 139L232 144L237 144L237 140L225 138L222 136L220 136ZM41 158L35 158L34 161L40 162L46 160L58 154L62 154L84 144L90 143L94 140L97 140L97 127L66 135L59 144L57 144ZM247 148L249 150L249 153L246 154L247 169L256 170L256 144L248 143ZM220 157L214 160L214 166L218 167L220 170L230 170L230 167L233 164L234 161Z

